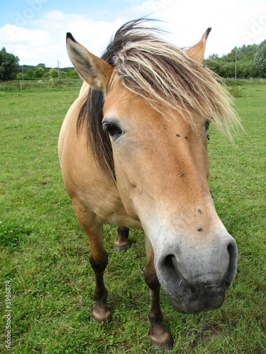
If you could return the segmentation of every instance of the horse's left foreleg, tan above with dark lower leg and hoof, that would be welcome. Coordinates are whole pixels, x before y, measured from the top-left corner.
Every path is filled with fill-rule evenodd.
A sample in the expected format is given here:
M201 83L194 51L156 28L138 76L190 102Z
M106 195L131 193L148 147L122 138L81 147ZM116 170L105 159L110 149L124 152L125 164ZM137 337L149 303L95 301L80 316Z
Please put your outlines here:
M91 315L96 321L108 321L111 318L111 311L106 304L107 290L104 285L104 270L108 264L108 253L104 249L104 227L97 224L94 215L87 212L79 203L73 202L73 207L79 224L87 234L90 248L89 262L95 275L95 304Z

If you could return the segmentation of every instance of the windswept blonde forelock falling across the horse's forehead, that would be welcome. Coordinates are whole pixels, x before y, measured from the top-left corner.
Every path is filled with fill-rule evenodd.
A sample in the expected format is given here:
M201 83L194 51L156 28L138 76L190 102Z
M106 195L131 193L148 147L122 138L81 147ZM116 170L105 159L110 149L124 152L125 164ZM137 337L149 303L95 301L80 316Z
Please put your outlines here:
M232 128L239 124L231 97L218 84L218 77L184 50L155 35L153 29L128 28L113 66L127 89L162 113L165 108L176 111L192 127L199 124L194 117L201 117L231 137Z

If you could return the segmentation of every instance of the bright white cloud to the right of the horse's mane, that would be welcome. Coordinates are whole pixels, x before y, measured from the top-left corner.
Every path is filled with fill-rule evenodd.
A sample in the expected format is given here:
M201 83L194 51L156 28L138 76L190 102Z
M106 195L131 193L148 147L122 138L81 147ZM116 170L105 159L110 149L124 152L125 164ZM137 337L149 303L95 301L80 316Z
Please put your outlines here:
M131 11L165 21L162 27L173 33L169 38L180 47L194 45L211 27L206 55L227 54L235 45L258 44L266 34L266 6L261 0L224 0L215 6L213 0L135 1Z

